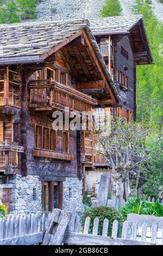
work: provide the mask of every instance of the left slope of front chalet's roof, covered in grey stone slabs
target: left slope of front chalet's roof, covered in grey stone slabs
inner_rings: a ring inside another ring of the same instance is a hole
[[[0,25],[0,58],[40,55],[86,26],[87,20]]]

